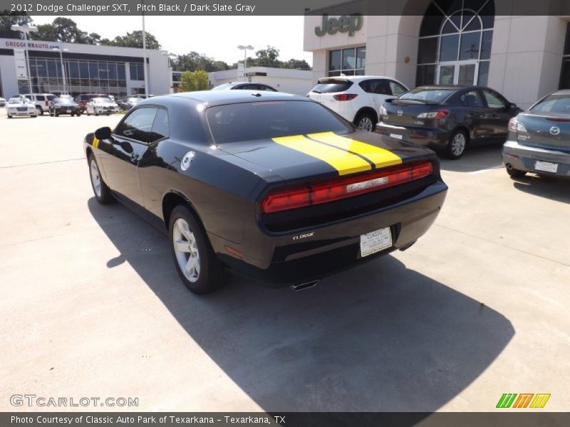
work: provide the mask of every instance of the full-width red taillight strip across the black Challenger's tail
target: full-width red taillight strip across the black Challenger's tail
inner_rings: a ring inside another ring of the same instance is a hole
[[[261,211],[264,214],[271,214],[272,212],[288,211],[289,209],[346,199],[425,178],[425,176],[430,176],[432,172],[432,164],[425,162],[354,178],[335,179],[295,186],[291,189],[274,190],[270,191],[261,202]]]

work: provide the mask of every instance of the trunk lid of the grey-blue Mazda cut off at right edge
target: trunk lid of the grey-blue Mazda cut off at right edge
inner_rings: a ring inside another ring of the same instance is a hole
[[[520,113],[517,121],[527,128],[527,132],[517,132],[519,144],[570,151],[569,115],[527,111]]]

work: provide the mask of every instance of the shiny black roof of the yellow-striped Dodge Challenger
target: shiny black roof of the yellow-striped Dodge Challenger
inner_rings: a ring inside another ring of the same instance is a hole
[[[264,90],[202,90],[198,92],[182,92],[172,95],[163,95],[144,100],[145,103],[157,101],[168,102],[170,98],[187,98],[198,102],[203,102],[209,106],[223,104],[237,104],[240,102],[261,102],[261,101],[307,101],[312,102],[307,97],[291,95],[290,93],[266,92]],[[139,104],[141,105],[142,102]]]

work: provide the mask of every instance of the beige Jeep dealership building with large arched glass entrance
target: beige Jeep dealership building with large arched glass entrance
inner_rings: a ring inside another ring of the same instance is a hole
[[[323,76],[385,75],[410,88],[478,84],[521,107],[570,88],[570,16],[515,16],[516,1],[384,4],[402,14],[305,17],[304,50],[313,53],[314,82]]]

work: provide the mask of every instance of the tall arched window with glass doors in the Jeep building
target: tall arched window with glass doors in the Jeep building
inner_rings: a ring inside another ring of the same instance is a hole
[[[432,0],[418,44],[415,84],[487,85],[493,0]]]

